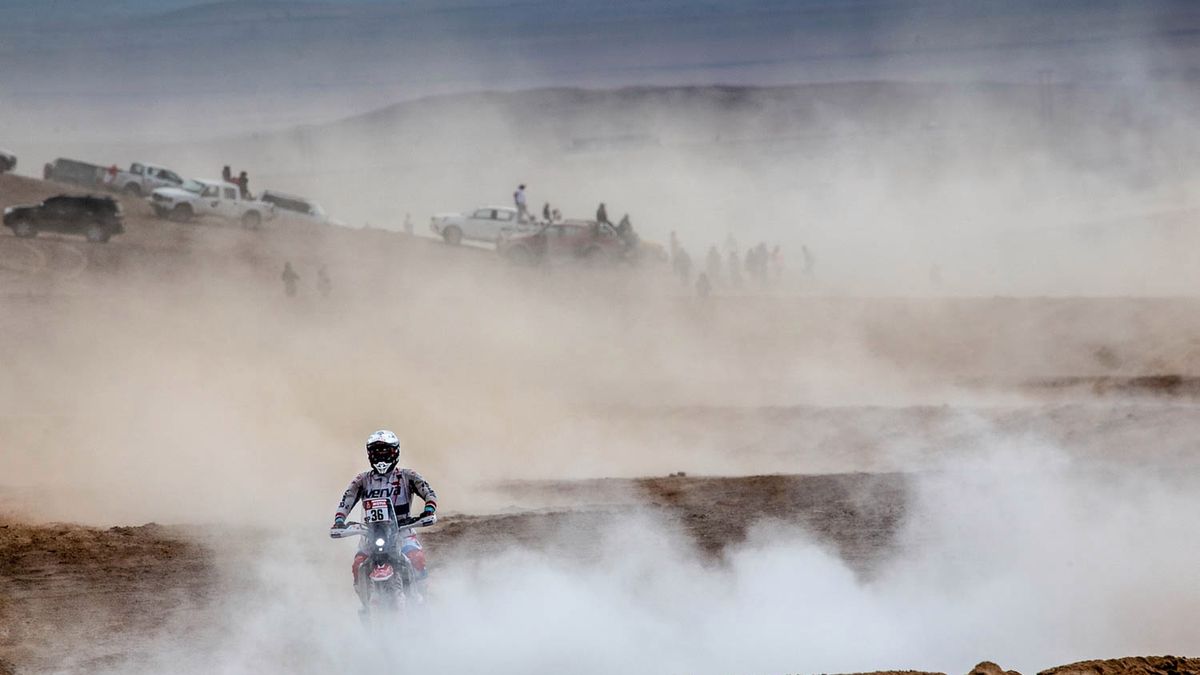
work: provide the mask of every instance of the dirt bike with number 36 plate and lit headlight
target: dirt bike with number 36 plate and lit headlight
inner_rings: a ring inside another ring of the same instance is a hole
[[[428,527],[438,521],[437,515],[397,519],[390,500],[365,500],[362,520],[347,522],[342,530],[330,530],[334,539],[364,537],[370,543],[359,574],[365,574],[366,598],[364,620],[403,611],[419,601],[416,569],[401,552],[404,538],[416,527]]]

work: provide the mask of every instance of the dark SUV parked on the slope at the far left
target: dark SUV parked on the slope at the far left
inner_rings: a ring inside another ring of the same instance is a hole
[[[83,234],[89,241],[108,241],[125,232],[121,205],[112,197],[59,195],[41,204],[8,207],[4,223],[17,237],[37,237],[38,232]]]

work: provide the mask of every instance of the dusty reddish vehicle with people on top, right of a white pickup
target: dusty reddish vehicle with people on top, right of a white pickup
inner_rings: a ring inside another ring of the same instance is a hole
[[[496,250],[518,264],[566,259],[616,262],[632,259],[636,255],[611,225],[588,220],[554,222],[536,232],[509,232],[500,238]]]

